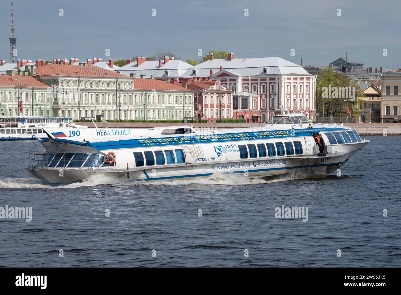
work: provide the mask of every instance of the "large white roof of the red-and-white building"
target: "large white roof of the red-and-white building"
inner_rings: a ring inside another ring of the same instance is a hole
[[[209,77],[210,70],[213,70],[213,75],[223,70],[232,73],[233,75],[265,75],[263,70],[266,68],[267,75],[310,75],[303,67],[282,59],[280,57],[260,57],[260,58],[235,58],[229,61],[228,59],[213,59],[205,61],[193,67],[190,67],[182,77],[193,77],[192,71],[197,70],[196,76]]]

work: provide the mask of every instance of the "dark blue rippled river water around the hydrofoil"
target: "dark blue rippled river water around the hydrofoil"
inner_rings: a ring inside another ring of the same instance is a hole
[[[362,137],[341,177],[59,186],[24,171],[39,142],[0,142],[0,207],[32,208],[0,219],[0,267],[401,267],[401,137]],[[282,205],[308,221],[275,218]]]

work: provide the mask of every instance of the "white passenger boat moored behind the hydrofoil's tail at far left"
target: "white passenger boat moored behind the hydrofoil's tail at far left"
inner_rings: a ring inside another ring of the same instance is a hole
[[[0,117],[0,140],[37,140],[47,138],[44,128],[87,128],[75,125],[72,118]]]

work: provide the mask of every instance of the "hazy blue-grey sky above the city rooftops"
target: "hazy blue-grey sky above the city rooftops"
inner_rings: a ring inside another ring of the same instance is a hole
[[[225,50],[234,57],[279,56],[298,64],[303,53],[302,65],[328,65],[347,51],[366,66],[396,69],[400,8],[396,0],[14,0],[14,22],[20,59],[104,61],[110,49],[115,60],[160,51],[185,60],[199,59],[202,49],[204,55]],[[1,0],[0,28],[0,58],[9,62],[9,0]]]

